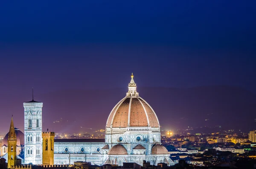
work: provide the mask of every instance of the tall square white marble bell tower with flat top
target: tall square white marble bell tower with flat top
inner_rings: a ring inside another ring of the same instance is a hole
[[[42,164],[42,107],[32,100],[24,106],[24,163]]]

